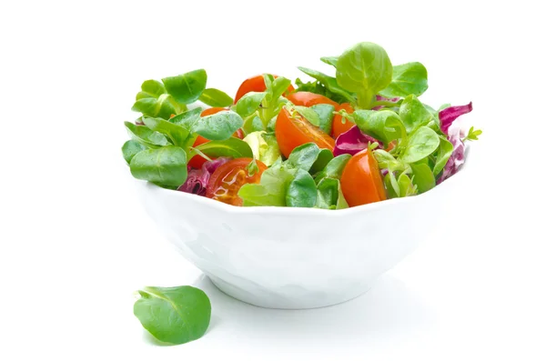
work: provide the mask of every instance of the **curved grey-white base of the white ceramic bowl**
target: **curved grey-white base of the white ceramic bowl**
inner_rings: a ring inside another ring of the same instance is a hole
[[[353,287],[350,291],[343,292],[342,294],[329,295],[329,296],[309,296],[309,297],[286,297],[278,296],[271,293],[264,293],[263,290],[253,290],[252,293],[244,290],[238,286],[229,284],[224,280],[215,276],[208,276],[214,286],[225,293],[227,296],[231,296],[239,301],[247,304],[274,309],[310,309],[320,308],[327,306],[339,305],[344,302],[350,301],[353,298],[363,295],[369,290],[368,285],[359,287]],[[257,291],[257,292],[254,292]]]

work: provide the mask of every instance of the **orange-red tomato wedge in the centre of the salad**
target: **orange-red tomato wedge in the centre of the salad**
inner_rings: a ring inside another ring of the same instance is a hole
[[[288,158],[292,150],[306,143],[315,143],[319,148],[333,150],[336,141],[324,133],[319,126],[312,125],[303,116],[292,116],[286,108],[277,115],[275,125],[280,153]]]

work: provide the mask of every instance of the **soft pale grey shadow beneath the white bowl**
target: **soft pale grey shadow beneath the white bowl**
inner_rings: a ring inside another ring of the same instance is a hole
[[[361,342],[362,337],[411,334],[434,322],[431,310],[402,281],[381,276],[364,295],[337,306],[309,310],[278,310],[248,305],[227,296],[201,276],[194,284],[212,303],[207,333],[231,329],[248,338],[325,342]],[[224,332],[223,332],[224,333]],[[403,335],[402,335],[403,336]],[[390,338],[390,337],[389,337]]]

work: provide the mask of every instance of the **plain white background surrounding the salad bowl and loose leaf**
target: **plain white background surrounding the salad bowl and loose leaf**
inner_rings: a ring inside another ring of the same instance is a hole
[[[0,358],[545,359],[538,4],[2,2]],[[139,85],[204,67],[234,95],[250,75],[328,70],[320,56],[360,41],[426,65],[427,103],[473,101],[465,124],[484,134],[460,205],[346,304],[279,311],[221,294],[136,200],[119,148]],[[157,346],[133,292],[189,284],[211,298],[207,335]]]

